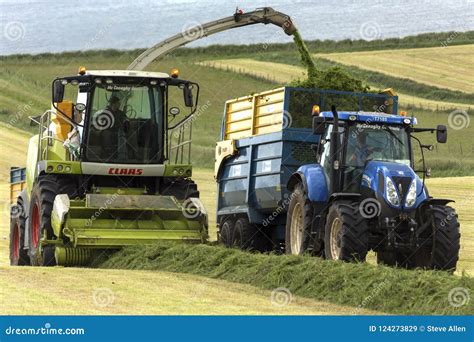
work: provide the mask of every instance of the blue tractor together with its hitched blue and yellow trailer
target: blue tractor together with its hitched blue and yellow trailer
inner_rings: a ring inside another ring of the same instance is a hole
[[[339,110],[338,110],[339,108]],[[433,198],[422,132],[380,93],[284,87],[226,102],[216,147],[220,241],[251,250],[454,270],[457,214]]]

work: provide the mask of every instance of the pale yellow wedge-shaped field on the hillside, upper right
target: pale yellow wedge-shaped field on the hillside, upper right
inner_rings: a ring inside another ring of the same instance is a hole
[[[474,92],[474,44],[317,54],[316,57],[439,88]]]

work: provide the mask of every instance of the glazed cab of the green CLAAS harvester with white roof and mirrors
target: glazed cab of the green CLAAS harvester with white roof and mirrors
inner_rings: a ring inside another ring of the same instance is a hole
[[[37,118],[48,127],[41,132],[40,149],[45,157],[49,153],[45,159],[163,164],[176,136],[169,133],[196,110],[198,92],[199,86],[179,79],[176,69],[170,76],[81,67],[76,76],[54,80],[52,110]]]

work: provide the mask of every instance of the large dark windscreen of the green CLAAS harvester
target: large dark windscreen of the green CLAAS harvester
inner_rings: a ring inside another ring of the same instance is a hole
[[[163,92],[157,86],[97,84],[91,94],[86,158],[101,163],[160,163]]]

